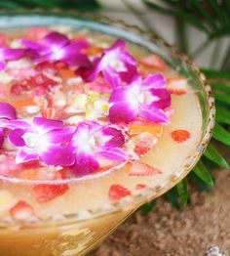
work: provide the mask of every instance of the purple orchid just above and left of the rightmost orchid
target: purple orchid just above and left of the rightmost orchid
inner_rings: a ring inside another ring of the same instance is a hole
[[[92,82],[100,72],[112,87],[116,87],[120,78],[125,82],[130,82],[134,78],[137,73],[136,62],[125,49],[125,41],[118,39],[112,47],[102,53],[100,58],[93,61],[91,69],[77,70],[87,82]]]

